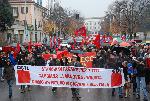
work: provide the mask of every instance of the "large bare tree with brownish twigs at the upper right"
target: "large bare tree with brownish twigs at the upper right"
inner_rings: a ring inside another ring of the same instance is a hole
[[[143,23],[144,10],[150,4],[150,0],[118,0],[110,5],[108,13],[111,26],[119,33],[126,32],[132,39],[137,27]],[[111,28],[110,28],[111,29]]]

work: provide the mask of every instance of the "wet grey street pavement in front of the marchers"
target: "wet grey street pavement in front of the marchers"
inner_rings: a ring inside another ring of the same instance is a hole
[[[33,86],[32,91],[21,94],[19,86],[13,86],[13,98],[9,100],[6,83],[0,83],[0,101],[72,101],[71,90],[59,88],[54,95],[51,87]],[[81,101],[140,101],[135,97],[119,99],[111,97],[111,89],[80,89]]]

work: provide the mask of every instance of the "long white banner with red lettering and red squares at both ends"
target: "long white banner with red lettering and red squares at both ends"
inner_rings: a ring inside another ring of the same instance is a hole
[[[29,65],[14,68],[17,85],[69,88],[115,88],[124,85],[123,73],[112,72],[112,69]]]

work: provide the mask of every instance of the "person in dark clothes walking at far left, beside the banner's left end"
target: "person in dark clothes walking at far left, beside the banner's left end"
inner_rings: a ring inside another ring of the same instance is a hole
[[[11,99],[12,97],[12,85],[13,85],[13,80],[15,78],[15,73],[13,70],[13,66],[11,65],[10,60],[7,60],[7,64],[4,66],[4,79],[7,80],[7,84],[9,87],[9,98]]]

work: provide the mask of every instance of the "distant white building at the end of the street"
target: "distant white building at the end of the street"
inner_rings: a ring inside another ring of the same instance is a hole
[[[84,24],[89,34],[97,34],[101,30],[101,20],[99,17],[86,18]]]

